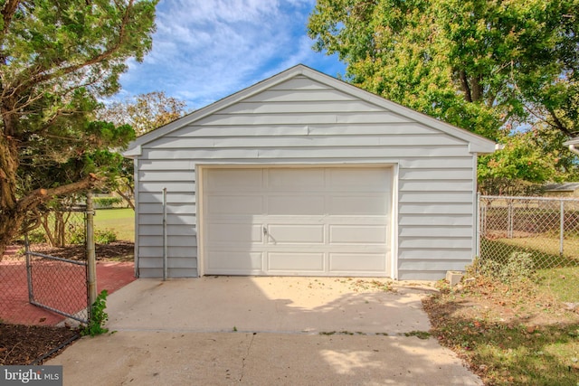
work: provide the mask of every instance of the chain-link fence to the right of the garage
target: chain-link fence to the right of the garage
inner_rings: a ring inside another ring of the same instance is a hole
[[[525,252],[534,268],[579,266],[579,200],[479,196],[479,258],[507,264]]]

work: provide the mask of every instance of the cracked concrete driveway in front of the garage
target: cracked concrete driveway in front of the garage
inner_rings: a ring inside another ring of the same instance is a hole
[[[109,296],[114,334],[46,364],[63,365],[65,385],[482,384],[415,336],[430,328],[421,298],[432,290],[385,292],[368,278],[138,279]]]

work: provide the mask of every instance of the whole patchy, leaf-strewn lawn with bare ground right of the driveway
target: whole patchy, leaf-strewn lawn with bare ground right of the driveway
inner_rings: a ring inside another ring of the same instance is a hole
[[[478,268],[423,300],[432,336],[485,384],[579,385],[579,307],[568,303],[579,302],[579,268],[520,276]]]

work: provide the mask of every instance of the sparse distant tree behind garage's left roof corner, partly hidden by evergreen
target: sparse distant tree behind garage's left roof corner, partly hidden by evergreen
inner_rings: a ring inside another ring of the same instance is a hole
[[[113,102],[99,110],[98,117],[117,125],[133,127],[138,136],[164,126],[185,115],[186,103],[167,97],[164,91],[152,91],[137,97]],[[109,179],[109,189],[117,192],[134,210],[133,161],[120,159],[117,177]]]

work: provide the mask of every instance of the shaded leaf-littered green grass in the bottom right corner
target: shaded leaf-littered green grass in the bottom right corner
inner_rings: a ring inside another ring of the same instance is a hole
[[[579,325],[524,325],[455,320],[439,331],[446,344],[479,365],[489,384],[569,385],[579,381]],[[484,366],[484,367],[483,367]]]

